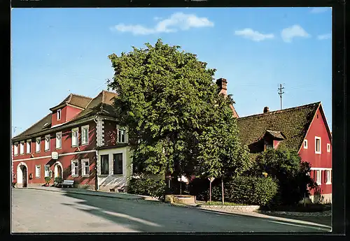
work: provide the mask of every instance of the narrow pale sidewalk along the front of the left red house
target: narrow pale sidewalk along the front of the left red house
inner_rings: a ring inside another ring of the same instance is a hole
[[[134,195],[130,193],[108,193],[104,191],[94,191],[94,190],[86,190],[86,189],[78,189],[78,188],[57,188],[57,187],[27,187],[27,189],[36,189],[42,191],[55,191],[61,193],[75,193],[81,195],[90,195],[90,196],[102,196],[106,198],[118,198],[124,200],[156,200],[150,196],[141,196]]]

